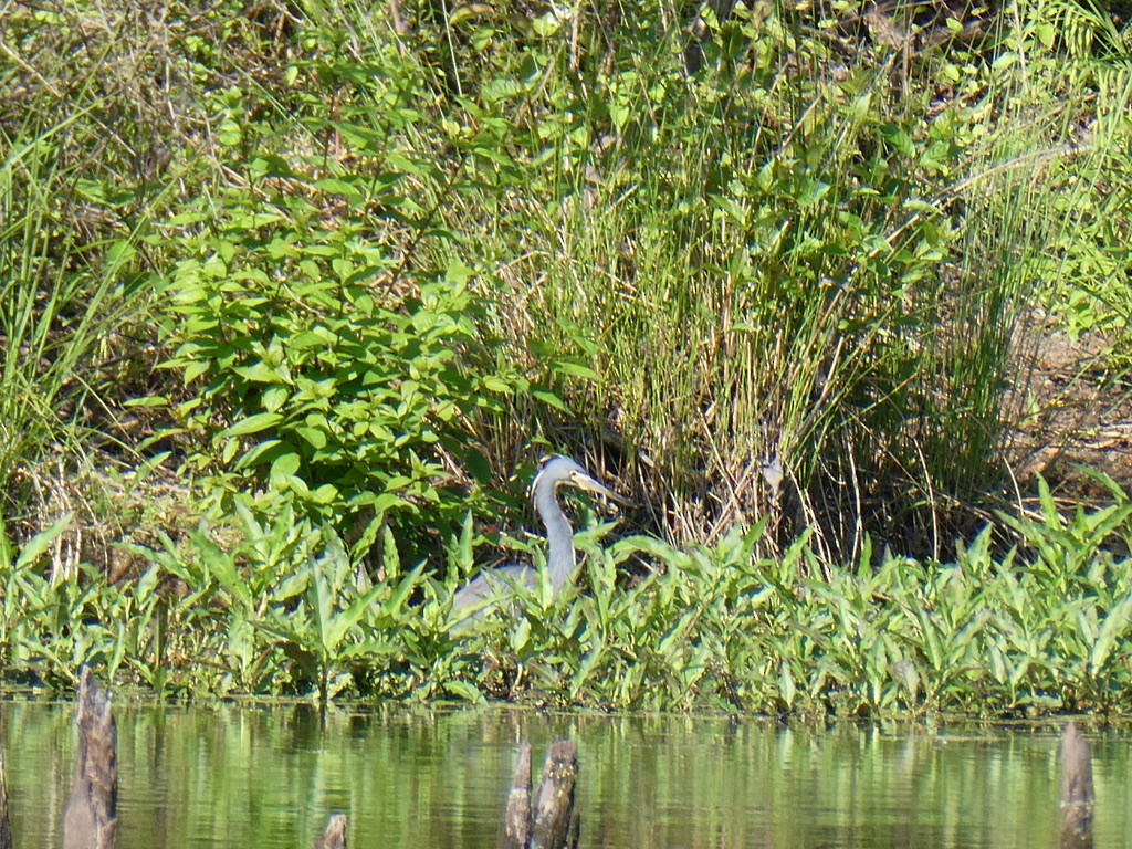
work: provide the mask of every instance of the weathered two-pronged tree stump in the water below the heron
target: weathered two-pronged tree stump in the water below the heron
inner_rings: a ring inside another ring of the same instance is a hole
[[[550,747],[542,780],[531,800],[531,746],[523,743],[499,832],[499,849],[576,849],[581,816],[574,809],[577,747],[560,740]]]

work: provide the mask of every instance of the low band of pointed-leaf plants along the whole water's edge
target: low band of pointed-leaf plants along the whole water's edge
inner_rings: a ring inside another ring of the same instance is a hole
[[[556,599],[546,581],[516,588],[507,608],[457,629],[455,577],[403,569],[388,531],[375,582],[327,526],[240,516],[234,544],[201,531],[137,549],[154,565],[122,586],[91,571],[52,584],[42,559],[62,525],[19,552],[7,543],[5,678],[59,688],[92,663],[185,698],[507,698],[808,719],[1132,707],[1132,559],[1113,554],[1132,538],[1126,497],[1066,521],[1045,491],[1041,516],[1003,517],[1024,541],[1017,550],[996,559],[1001,529],[988,525],[947,564],[866,550],[840,568],[808,537],[766,558],[764,526],[711,548],[607,544],[612,528],[600,525],[578,534],[576,589]],[[471,542],[469,522],[448,543],[458,571]]]

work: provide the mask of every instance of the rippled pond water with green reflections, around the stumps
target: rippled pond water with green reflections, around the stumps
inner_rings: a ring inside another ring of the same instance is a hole
[[[119,849],[494,846],[518,740],[578,744],[584,847],[1054,847],[1057,729],[829,731],[685,717],[117,705]],[[60,843],[69,704],[3,703],[16,844]],[[1123,847],[1132,739],[1097,736],[1096,846]]]

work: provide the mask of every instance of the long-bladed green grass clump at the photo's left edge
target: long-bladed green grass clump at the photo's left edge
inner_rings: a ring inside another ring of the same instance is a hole
[[[134,308],[138,233],[88,240],[70,230],[79,203],[60,147],[82,115],[29,123],[0,163],[0,491],[5,508],[37,487],[38,464],[84,455],[108,421],[97,363]],[[89,188],[89,187],[86,187]],[[96,428],[95,428],[96,429]],[[65,464],[68,461],[63,461]]]

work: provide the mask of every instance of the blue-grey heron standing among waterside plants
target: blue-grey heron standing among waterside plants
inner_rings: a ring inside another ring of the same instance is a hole
[[[551,457],[543,463],[531,483],[531,500],[534,501],[534,508],[547,532],[547,573],[554,598],[558,598],[566,583],[574,577],[577,566],[574,554],[574,529],[571,528],[569,520],[558,504],[559,486],[577,487],[621,504],[626,503],[625,498],[599,483],[569,457]],[[516,585],[534,589],[537,580],[538,572],[524,564],[513,563],[486,569],[456,592],[452,601],[453,612],[466,614],[460,619],[466,621],[489,607],[489,601],[511,595]]]

